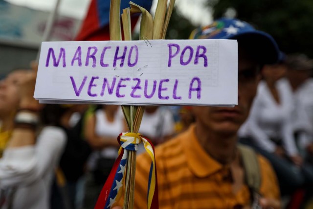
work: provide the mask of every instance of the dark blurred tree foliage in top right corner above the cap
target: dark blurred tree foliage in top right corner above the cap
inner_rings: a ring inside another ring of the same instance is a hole
[[[313,0],[208,0],[214,19],[231,8],[236,17],[271,34],[285,53],[313,58]]]

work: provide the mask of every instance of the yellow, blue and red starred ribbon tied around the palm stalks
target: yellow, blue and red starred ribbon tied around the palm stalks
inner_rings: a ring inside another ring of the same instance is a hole
[[[143,138],[141,134],[136,133],[121,133],[117,138],[121,145],[118,150],[118,157],[113,164],[110,175],[103,186],[101,193],[98,197],[95,209],[110,209],[111,206],[117,202],[121,196],[124,182],[125,167],[127,164],[128,150],[137,150],[138,144],[143,142],[145,150],[151,157],[151,166],[148,181],[148,194],[147,194],[147,208],[158,209],[158,191],[157,191],[157,178],[156,178],[156,160],[155,149],[149,139]]]

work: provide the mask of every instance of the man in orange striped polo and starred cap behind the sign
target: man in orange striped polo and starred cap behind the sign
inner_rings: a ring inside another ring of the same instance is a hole
[[[271,36],[236,19],[220,19],[192,33],[194,39],[236,39],[239,46],[238,105],[193,107],[196,122],[186,132],[156,148],[161,209],[248,209],[252,192],[246,184],[237,131],[256,94],[259,71],[278,60]],[[257,156],[261,175],[256,205],[279,209],[279,188],[270,164]],[[150,157],[137,159],[134,208],[147,208]],[[254,199],[255,202],[255,199]],[[255,206],[254,206],[255,207]]]

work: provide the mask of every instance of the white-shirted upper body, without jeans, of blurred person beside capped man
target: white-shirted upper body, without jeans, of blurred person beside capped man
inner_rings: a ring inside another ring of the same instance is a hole
[[[258,93],[242,135],[249,135],[262,149],[277,155],[287,154],[295,164],[301,163],[293,137],[292,92],[288,81],[282,78],[285,69],[265,66]]]

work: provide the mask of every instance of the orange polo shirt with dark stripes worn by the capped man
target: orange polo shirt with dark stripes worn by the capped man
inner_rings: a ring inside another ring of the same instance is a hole
[[[279,199],[276,176],[270,164],[258,156],[263,197]],[[138,156],[135,177],[135,209],[147,208],[147,184],[151,160]],[[232,190],[231,170],[211,158],[195,135],[195,126],[156,148],[160,209],[233,209],[247,206],[250,192],[244,185]],[[227,178],[230,177],[230,178]]]

